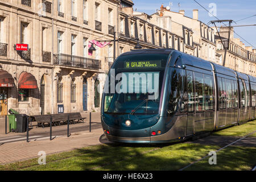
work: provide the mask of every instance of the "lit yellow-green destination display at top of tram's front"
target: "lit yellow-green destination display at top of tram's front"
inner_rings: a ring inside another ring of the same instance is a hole
[[[125,68],[160,68],[160,60],[151,61],[125,61]]]

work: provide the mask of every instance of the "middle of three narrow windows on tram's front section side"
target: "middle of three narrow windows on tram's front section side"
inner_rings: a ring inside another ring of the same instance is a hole
[[[195,72],[195,86],[196,86],[196,111],[205,110],[205,89],[204,77],[202,73]]]

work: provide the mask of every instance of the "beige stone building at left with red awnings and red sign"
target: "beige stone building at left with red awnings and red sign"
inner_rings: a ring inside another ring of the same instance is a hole
[[[113,46],[94,45],[90,55],[88,45],[113,39],[118,3],[2,0],[1,115],[10,108],[28,115],[98,110]],[[15,51],[19,43],[28,50]]]

